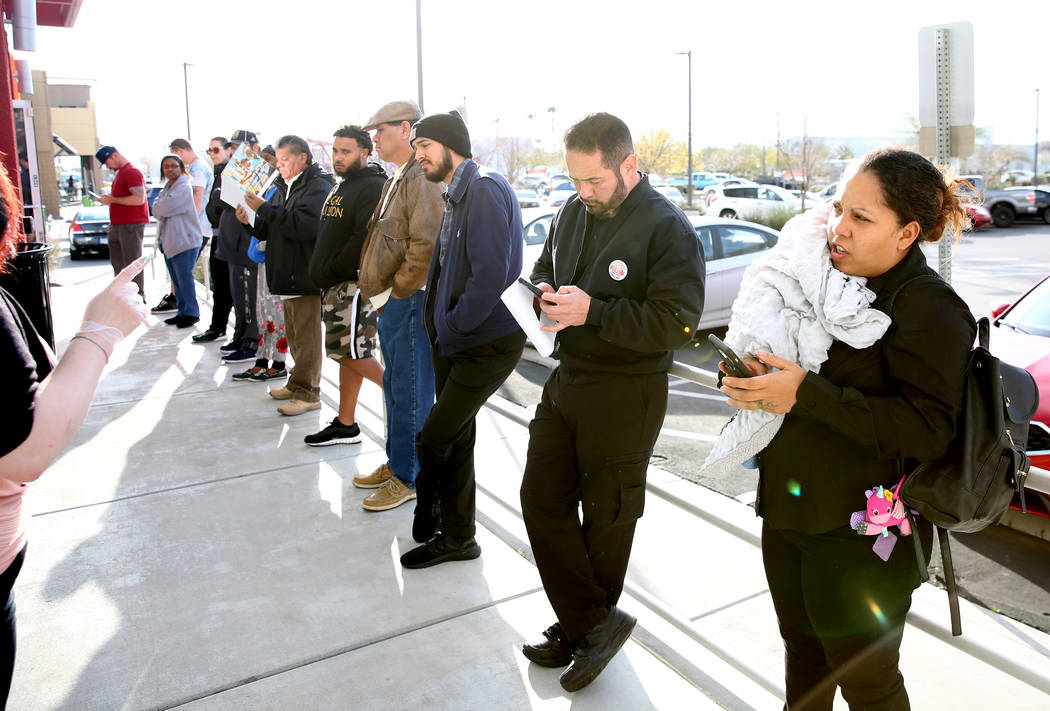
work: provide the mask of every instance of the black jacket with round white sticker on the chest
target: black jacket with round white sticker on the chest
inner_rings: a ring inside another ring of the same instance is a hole
[[[587,322],[558,334],[555,357],[581,371],[667,371],[674,349],[689,342],[704,311],[704,253],[696,231],[643,175],[615,215],[600,221],[602,244],[578,270],[593,222],[580,196],[570,197],[554,216],[530,277],[555,290],[574,285],[591,297]]]

